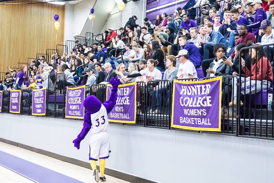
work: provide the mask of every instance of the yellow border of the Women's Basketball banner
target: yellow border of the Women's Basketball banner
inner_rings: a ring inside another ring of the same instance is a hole
[[[211,81],[220,81],[220,89],[219,89],[219,128],[201,128],[201,127],[188,127],[188,126],[181,126],[181,125],[174,125],[173,118],[174,118],[174,96],[172,95],[172,115],[171,115],[171,127],[179,128],[179,129],[186,129],[186,130],[197,130],[197,131],[221,131],[221,98],[222,98],[222,76],[211,78],[207,80],[201,81],[181,81],[181,80],[173,80],[173,94],[175,93],[175,83],[181,84],[198,84],[198,83],[207,83]]]

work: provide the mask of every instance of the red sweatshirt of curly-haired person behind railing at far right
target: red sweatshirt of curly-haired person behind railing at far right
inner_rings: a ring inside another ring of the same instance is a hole
[[[257,66],[257,73],[256,73],[256,66]],[[262,81],[266,79],[271,82],[273,81],[272,67],[266,57],[263,57],[263,69],[262,69],[262,59],[260,59],[257,62],[257,64],[256,63],[251,64],[251,72],[248,70],[246,66],[242,67],[242,69],[245,72],[245,76],[246,77],[250,76],[251,80],[257,79],[259,81]]]

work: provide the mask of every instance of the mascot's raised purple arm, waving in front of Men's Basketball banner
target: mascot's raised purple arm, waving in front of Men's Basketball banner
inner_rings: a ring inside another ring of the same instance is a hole
[[[110,111],[113,109],[114,105],[116,104],[117,90],[118,90],[118,85],[120,83],[120,79],[117,77],[111,78],[109,82],[112,85],[111,94],[110,94],[108,101],[105,101],[103,103],[103,105],[106,108],[107,113],[110,113]]]

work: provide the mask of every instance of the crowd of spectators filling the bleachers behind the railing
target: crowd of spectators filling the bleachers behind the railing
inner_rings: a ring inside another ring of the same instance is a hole
[[[196,8],[199,8],[198,15]],[[65,86],[106,83],[115,76],[122,83],[161,79],[172,82],[197,78],[200,68],[205,77],[242,74],[243,87],[257,84],[267,89],[273,81],[273,46],[240,52],[246,46],[274,43],[271,0],[225,0],[223,7],[214,0],[197,3],[190,0],[183,8],[174,10],[173,15],[157,15],[154,24],[147,17],[143,25],[137,25],[136,20],[135,15],[130,17],[118,29],[120,34],[109,28],[103,34],[103,42],[88,46],[76,40],[69,53],[60,56],[56,52],[48,62],[44,57],[33,60],[29,68],[22,65],[18,74],[11,70],[12,76],[6,74],[7,88],[47,87],[50,78],[61,90],[60,81],[49,75],[62,72]],[[236,88],[230,83],[225,93],[234,93],[236,97]],[[250,94],[260,90],[257,87]],[[156,103],[152,103],[150,112],[160,113],[159,95],[168,92],[168,88],[156,86],[154,91]],[[234,99],[226,100],[223,108],[227,109]],[[225,111],[224,115],[232,113],[235,111]]]

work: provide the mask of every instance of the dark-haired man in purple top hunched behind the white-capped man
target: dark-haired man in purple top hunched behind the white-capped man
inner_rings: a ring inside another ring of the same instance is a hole
[[[179,39],[179,49],[178,49],[178,53],[179,50],[187,50],[188,51],[188,58],[190,60],[190,62],[192,62],[192,64],[194,65],[195,68],[200,68],[201,66],[201,62],[202,62],[202,56],[200,54],[199,49],[192,43],[192,42],[188,42],[188,39],[186,38],[186,36],[184,35],[180,35],[178,37]],[[179,60],[177,60],[177,68],[179,68]]]

